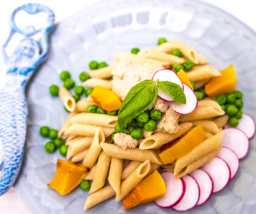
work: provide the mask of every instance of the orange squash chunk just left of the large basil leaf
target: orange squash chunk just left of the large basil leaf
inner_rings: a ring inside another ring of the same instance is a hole
[[[102,86],[95,86],[91,97],[98,106],[107,111],[118,110],[122,105],[122,102],[112,90]]]

